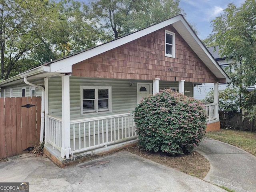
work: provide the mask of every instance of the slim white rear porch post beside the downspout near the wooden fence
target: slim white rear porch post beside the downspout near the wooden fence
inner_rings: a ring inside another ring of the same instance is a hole
[[[48,79],[49,78],[44,78],[44,143],[48,144],[48,140],[49,140],[49,125],[48,125],[48,121],[46,118],[46,115],[49,114],[49,102],[48,102],[48,98],[49,98],[49,89],[48,89]]]

